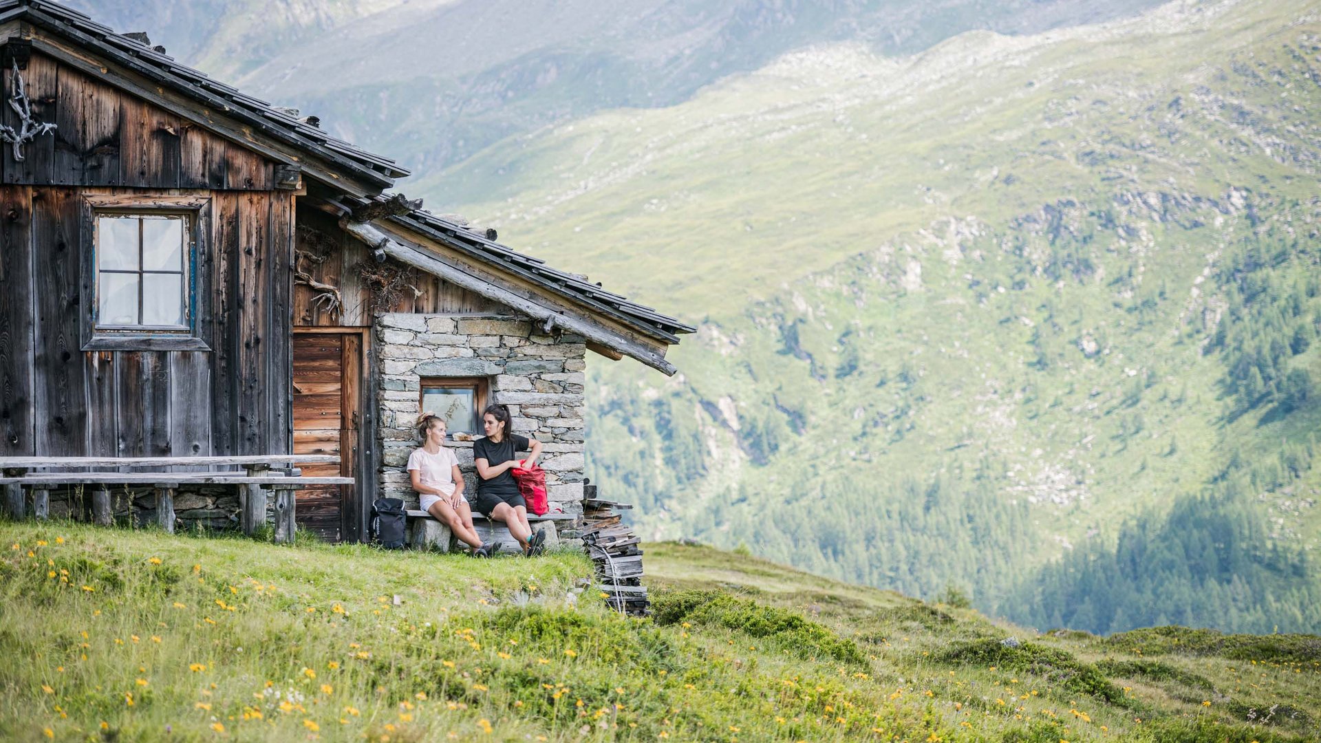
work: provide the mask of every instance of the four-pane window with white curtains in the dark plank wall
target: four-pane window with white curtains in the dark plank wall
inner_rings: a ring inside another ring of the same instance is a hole
[[[192,222],[186,213],[95,213],[96,331],[192,329]]]

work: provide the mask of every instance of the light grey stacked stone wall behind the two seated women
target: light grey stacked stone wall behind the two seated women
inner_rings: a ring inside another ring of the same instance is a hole
[[[382,374],[379,435],[382,497],[417,508],[404,467],[420,446],[421,379],[485,377],[489,402],[509,406],[514,432],[542,442],[551,512],[583,512],[583,418],[587,345],[581,336],[546,334],[527,317],[391,313],[376,317]],[[458,455],[472,500],[477,471],[470,442],[446,442]]]

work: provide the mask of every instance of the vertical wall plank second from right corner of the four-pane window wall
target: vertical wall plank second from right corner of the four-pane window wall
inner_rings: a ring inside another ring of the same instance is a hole
[[[266,258],[269,251],[269,206],[264,193],[239,197],[238,305],[238,453],[267,453],[267,325],[269,292]]]

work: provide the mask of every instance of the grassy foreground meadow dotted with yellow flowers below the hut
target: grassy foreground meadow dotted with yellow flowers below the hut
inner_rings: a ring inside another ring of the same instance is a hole
[[[543,559],[4,524],[5,740],[1314,739],[1321,639],[1036,635],[709,547]],[[398,598],[396,598],[398,596]]]

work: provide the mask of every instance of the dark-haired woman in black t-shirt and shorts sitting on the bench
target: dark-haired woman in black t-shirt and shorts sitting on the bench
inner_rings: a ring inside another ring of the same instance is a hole
[[[519,436],[510,431],[513,419],[503,405],[491,405],[482,414],[485,439],[473,442],[473,459],[477,463],[477,510],[495,521],[503,521],[509,533],[518,539],[527,557],[542,554],[546,530],[532,534],[527,522],[527,502],[518,493],[518,483],[510,469],[531,467],[542,453],[542,442]],[[517,453],[531,451],[531,456],[519,461]]]

